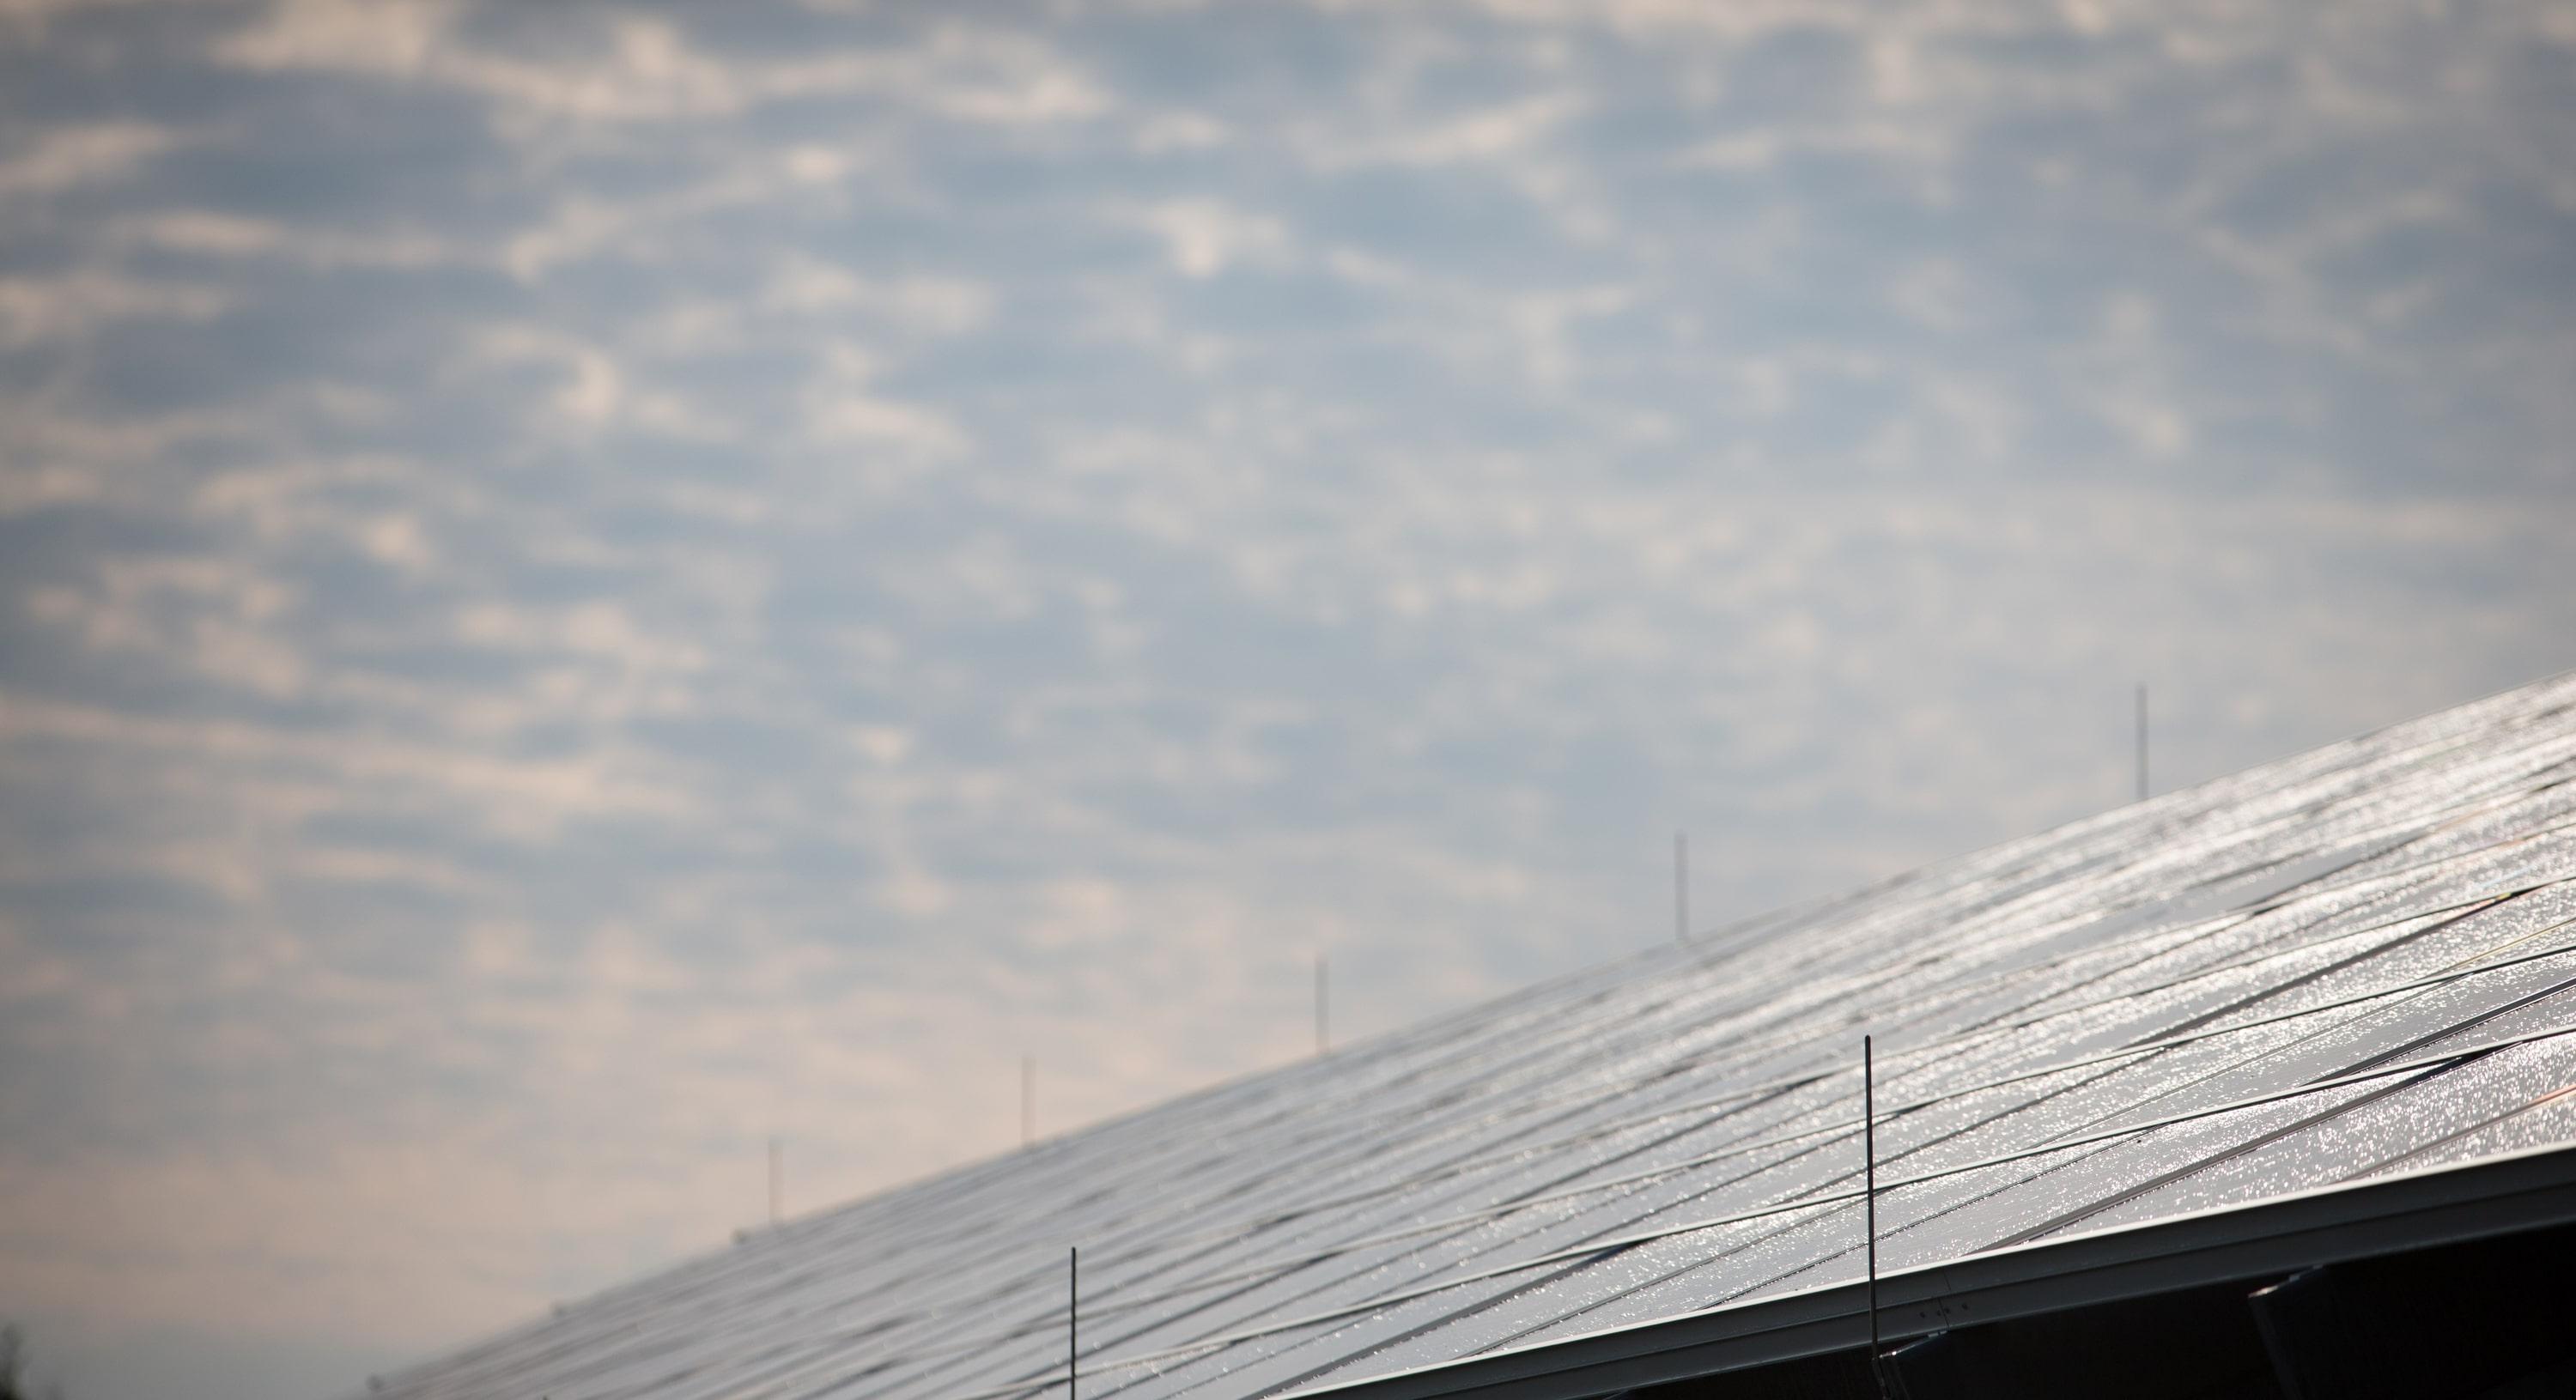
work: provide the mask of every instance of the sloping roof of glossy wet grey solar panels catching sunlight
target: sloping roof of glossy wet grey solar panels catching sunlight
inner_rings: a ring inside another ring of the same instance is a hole
[[[386,1377],[1242,1400],[2576,1140],[2576,677],[1105,1122]]]

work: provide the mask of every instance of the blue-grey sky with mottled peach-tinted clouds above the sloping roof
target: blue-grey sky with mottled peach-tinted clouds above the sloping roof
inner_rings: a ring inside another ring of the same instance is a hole
[[[2576,667],[2576,10],[0,0],[0,1318],[786,1204]]]

